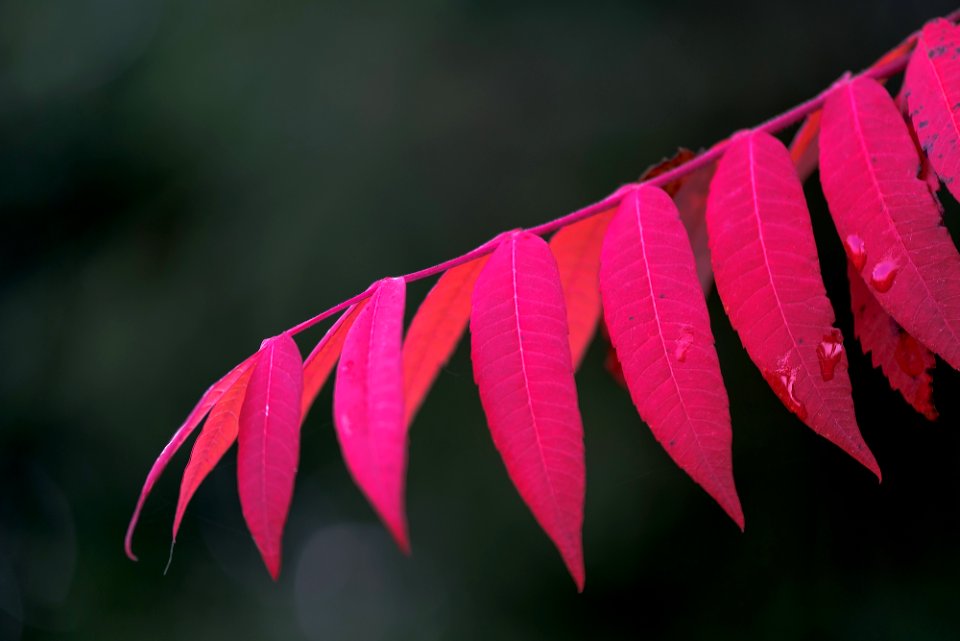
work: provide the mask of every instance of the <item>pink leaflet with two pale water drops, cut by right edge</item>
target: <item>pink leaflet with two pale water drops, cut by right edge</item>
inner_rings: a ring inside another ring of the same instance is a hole
[[[960,367],[960,254],[887,92],[860,78],[824,105],[820,181],[851,261],[908,333]]]

